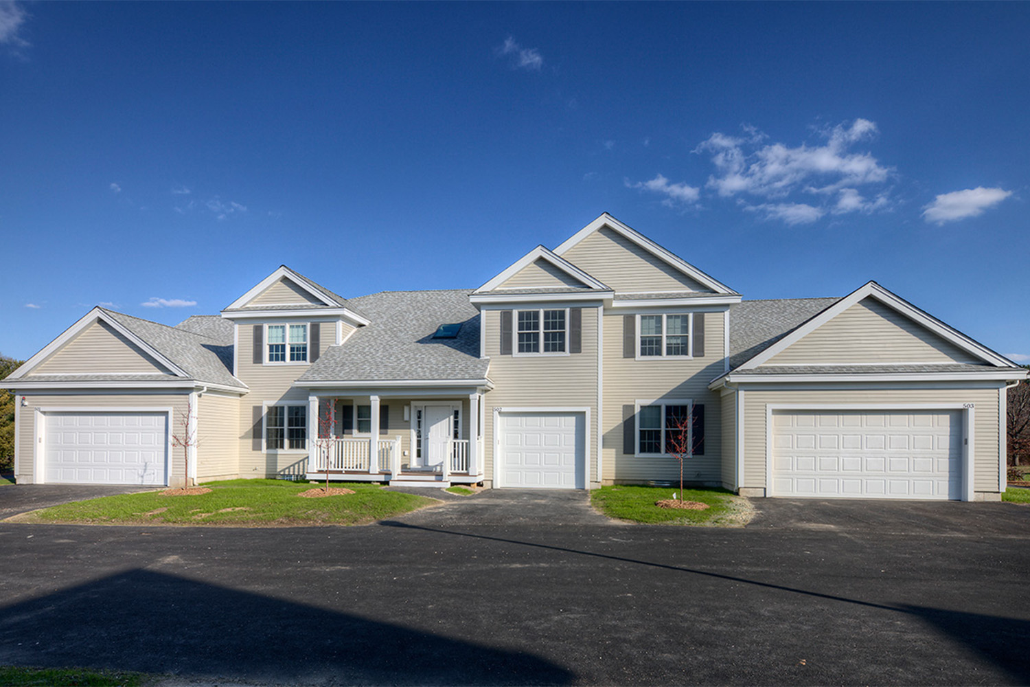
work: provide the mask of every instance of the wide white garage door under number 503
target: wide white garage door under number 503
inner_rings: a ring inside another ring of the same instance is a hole
[[[774,496],[961,499],[960,411],[772,412]]]

